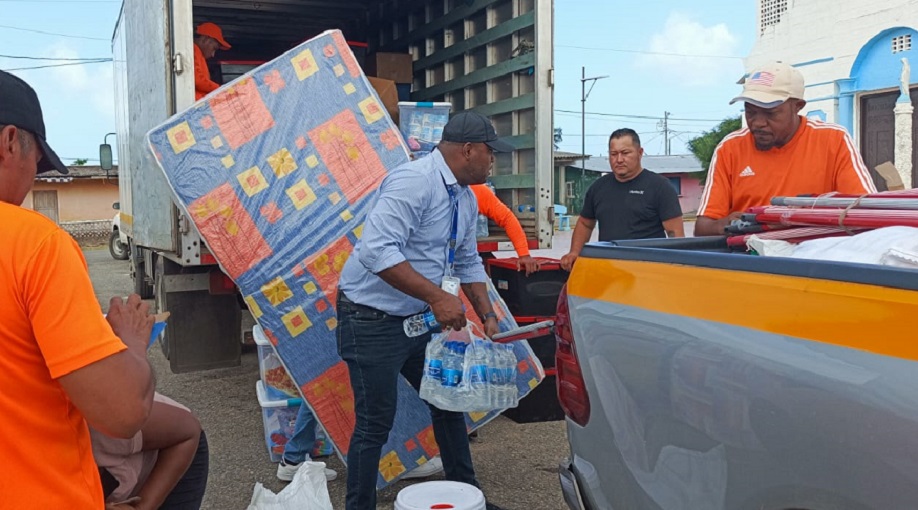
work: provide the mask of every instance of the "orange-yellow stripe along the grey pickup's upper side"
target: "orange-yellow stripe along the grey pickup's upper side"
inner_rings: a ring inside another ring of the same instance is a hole
[[[617,259],[577,260],[568,294],[918,360],[918,292]]]

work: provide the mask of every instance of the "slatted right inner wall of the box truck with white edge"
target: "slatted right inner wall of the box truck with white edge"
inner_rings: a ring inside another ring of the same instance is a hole
[[[412,100],[490,117],[516,150],[492,182],[540,247],[552,236],[552,0],[433,0],[371,10],[380,51],[414,56]],[[374,44],[375,43],[375,44]],[[523,211],[519,210],[523,206]],[[551,212],[550,212],[551,211]]]

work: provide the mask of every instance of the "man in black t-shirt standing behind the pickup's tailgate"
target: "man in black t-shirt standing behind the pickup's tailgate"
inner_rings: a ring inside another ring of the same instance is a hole
[[[682,207],[665,177],[641,166],[641,139],[633,129],[618,129],[609,137],[612,173],[590,186],[580,219],[571,236],[571,251],[561,258],[570,271],[583,245],[599,222],[600,241],[685,237]]]

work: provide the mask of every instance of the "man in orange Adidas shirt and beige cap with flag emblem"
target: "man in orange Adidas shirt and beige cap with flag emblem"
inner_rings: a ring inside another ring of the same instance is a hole
[[[754,69],[743,92],[746,126],[714,151],[701,196],[696,236],[722,235],[750,207],[773,197],[874,193],[854,142],[841,126],[800,115],[803,75],[783,62]]]

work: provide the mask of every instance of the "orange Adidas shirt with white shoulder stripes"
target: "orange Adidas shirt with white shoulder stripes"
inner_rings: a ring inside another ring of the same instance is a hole
[[[698,216],[721,219],[773,197],[875,193],[870,172],[841,126],[801,117],[783,147],[755,148],[748,128],[727,135],[711,159]]]

